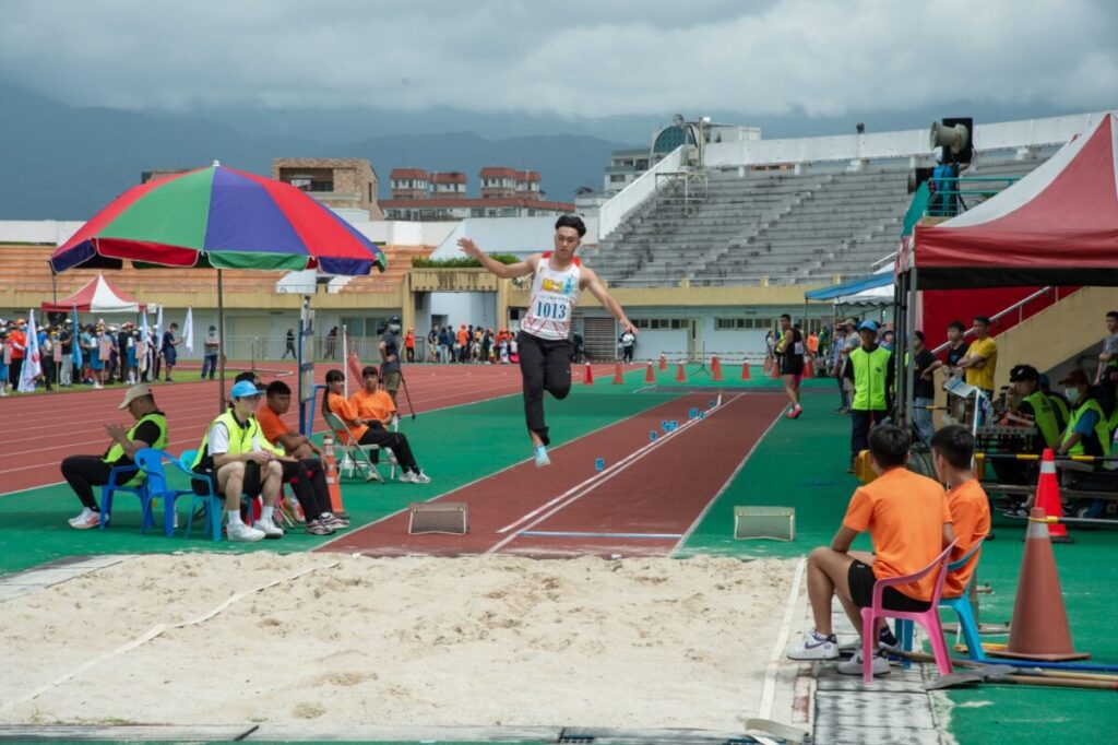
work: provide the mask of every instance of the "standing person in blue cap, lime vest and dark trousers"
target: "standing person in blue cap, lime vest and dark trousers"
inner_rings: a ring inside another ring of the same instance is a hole
[[[862,346],[850,353],[843,370],[843,377],[854,384],[847,473],[854,472],[854,459],[869,446],[870,428],[884,421],[892,399],[893,355],[878,345],[879,328],[877,321],[862,321],[858,327]]]

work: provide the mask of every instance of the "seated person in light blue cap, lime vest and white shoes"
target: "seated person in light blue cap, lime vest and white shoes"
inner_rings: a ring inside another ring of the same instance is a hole
[[[283,530],[274,520],[283,479],[280,465],[283,452],[268,442],[253,416],[263,395],[264,392],[250,380],[235,383],[229,390],[231,405],[206,431],[191,466],[196,473],[209,477],[214,493],[225,496],[226,531],[233,541],[256,543],[283,537]],[[203,489],[201,483],[195,482],[195,491],[205,493]],[[240,518],[241,494],[264,498],[260,519],[253,527]]]

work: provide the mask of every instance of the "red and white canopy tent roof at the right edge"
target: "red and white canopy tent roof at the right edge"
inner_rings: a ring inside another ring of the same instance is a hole
[[[912,289],[1118,286],[1118,117],[958,217],[916,227],[898,257]]]

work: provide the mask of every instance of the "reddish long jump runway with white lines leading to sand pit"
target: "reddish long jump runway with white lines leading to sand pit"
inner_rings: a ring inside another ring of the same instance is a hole
[[[689,409],[705,409],[709,398],[682,396],[553,449],[550,466],[537,469],[527,461],[442,494],[437,501],[468,504],[465,536],[408,535],[405,510],[319,550],[375,556],[667,555],[787,404],[776,394],[738,395],[705,418],[689,422]],[[650,432],[659,431],[663,419],[679,421],[680,430],[650,443]],[[598,458],[607,466],[601,473],[595,470]],[[510,525],[514,527],[500,532]],[[599,535],[519,532],[529,529]],[[647,535],[669,537],[641,537]]]

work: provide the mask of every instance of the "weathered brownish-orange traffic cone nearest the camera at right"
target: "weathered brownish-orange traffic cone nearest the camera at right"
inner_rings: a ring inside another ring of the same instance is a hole
[[[1042,477],[1043,478],[1043,477]],[[1025,532],[1025,553],[1021,557],[1017,597],[1010,623],[1006,649],[991,650],[994,657],[1021,660],[1086,660],[1090,654],[1076,652],[1071,645],[1068,612],[1063,606],[1060,574],[1049,539],[1044,510],[1033,508]]]

